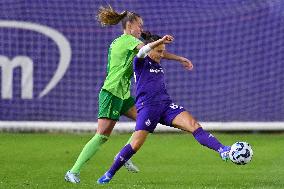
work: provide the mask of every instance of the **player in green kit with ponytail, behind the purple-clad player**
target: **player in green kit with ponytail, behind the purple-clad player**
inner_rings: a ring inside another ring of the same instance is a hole
[[[107,76],[99,94],[96,135],[84,146],[73,167],[65,174],[65,180],[72,183],[80,182],[79,173],[82,166],[108,140],[120,115],[125,115],[132,120],[136,120],[137,117],[135,101],[130,96],[130,82],[133,76],[133,58],[144,46],[144,43],[138,39],[143,32],[143,20],[134,12],[118,13],[111,6],[100,7],[97,18],[103,26],[121,22],[123,34],[111,43],[108,51]],[[167,52],[164,58],[176,60],[185,68],[191,65],[187,58]],[[128,140],[128,143],[130,142],[131,138]],[[139,171],[131,160],[124,165],[129,171]]]

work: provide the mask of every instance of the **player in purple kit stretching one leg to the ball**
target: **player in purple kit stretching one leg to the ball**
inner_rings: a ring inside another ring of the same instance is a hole
[[[223,160],[229,159],[230,146],[224,146],[212,134],[204,131],[189,112],[173,103],[166,91],[160,61],[165,52],[165,44],[172,41],[173,37],[170,35],[163,38],[150,35],[146,41],[148,44],[134,58],[135,104],[138,110],[135,132],[131,143],[120,150],[110,169],[98,179],[98,184],[110,182],[123,164],[140,149],[158,123],[192,133],[201,145],[218,152]],[[192,68],[192,64],[187,67],[188,70]]]

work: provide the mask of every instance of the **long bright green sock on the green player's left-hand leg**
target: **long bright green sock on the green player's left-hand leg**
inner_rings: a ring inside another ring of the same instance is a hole
[[[108,136],[96,134],[83,148],[76,163],[71,169],[71,173],[79,173],[82,166],[95,155],[101,145],[103,145],[107,140]]]

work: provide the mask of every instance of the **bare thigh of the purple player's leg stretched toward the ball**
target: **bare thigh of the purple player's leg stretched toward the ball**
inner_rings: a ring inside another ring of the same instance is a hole
[[[189,131],[191,133],[200,127],[197,120],[187,111],[183,111],[178,114],[173,119],[172,125],[176,128]]]

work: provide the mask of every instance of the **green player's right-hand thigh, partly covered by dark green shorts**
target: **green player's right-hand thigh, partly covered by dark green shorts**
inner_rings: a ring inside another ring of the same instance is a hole
[[[125,115],[126,117],[132,119],[132,120],[136,120],[137,118],[137,109],[135,106],[135,100],[133,97],[130,97],[126,100],[123,100],[123,105],[121,108],[121,112],[122,115]]]

